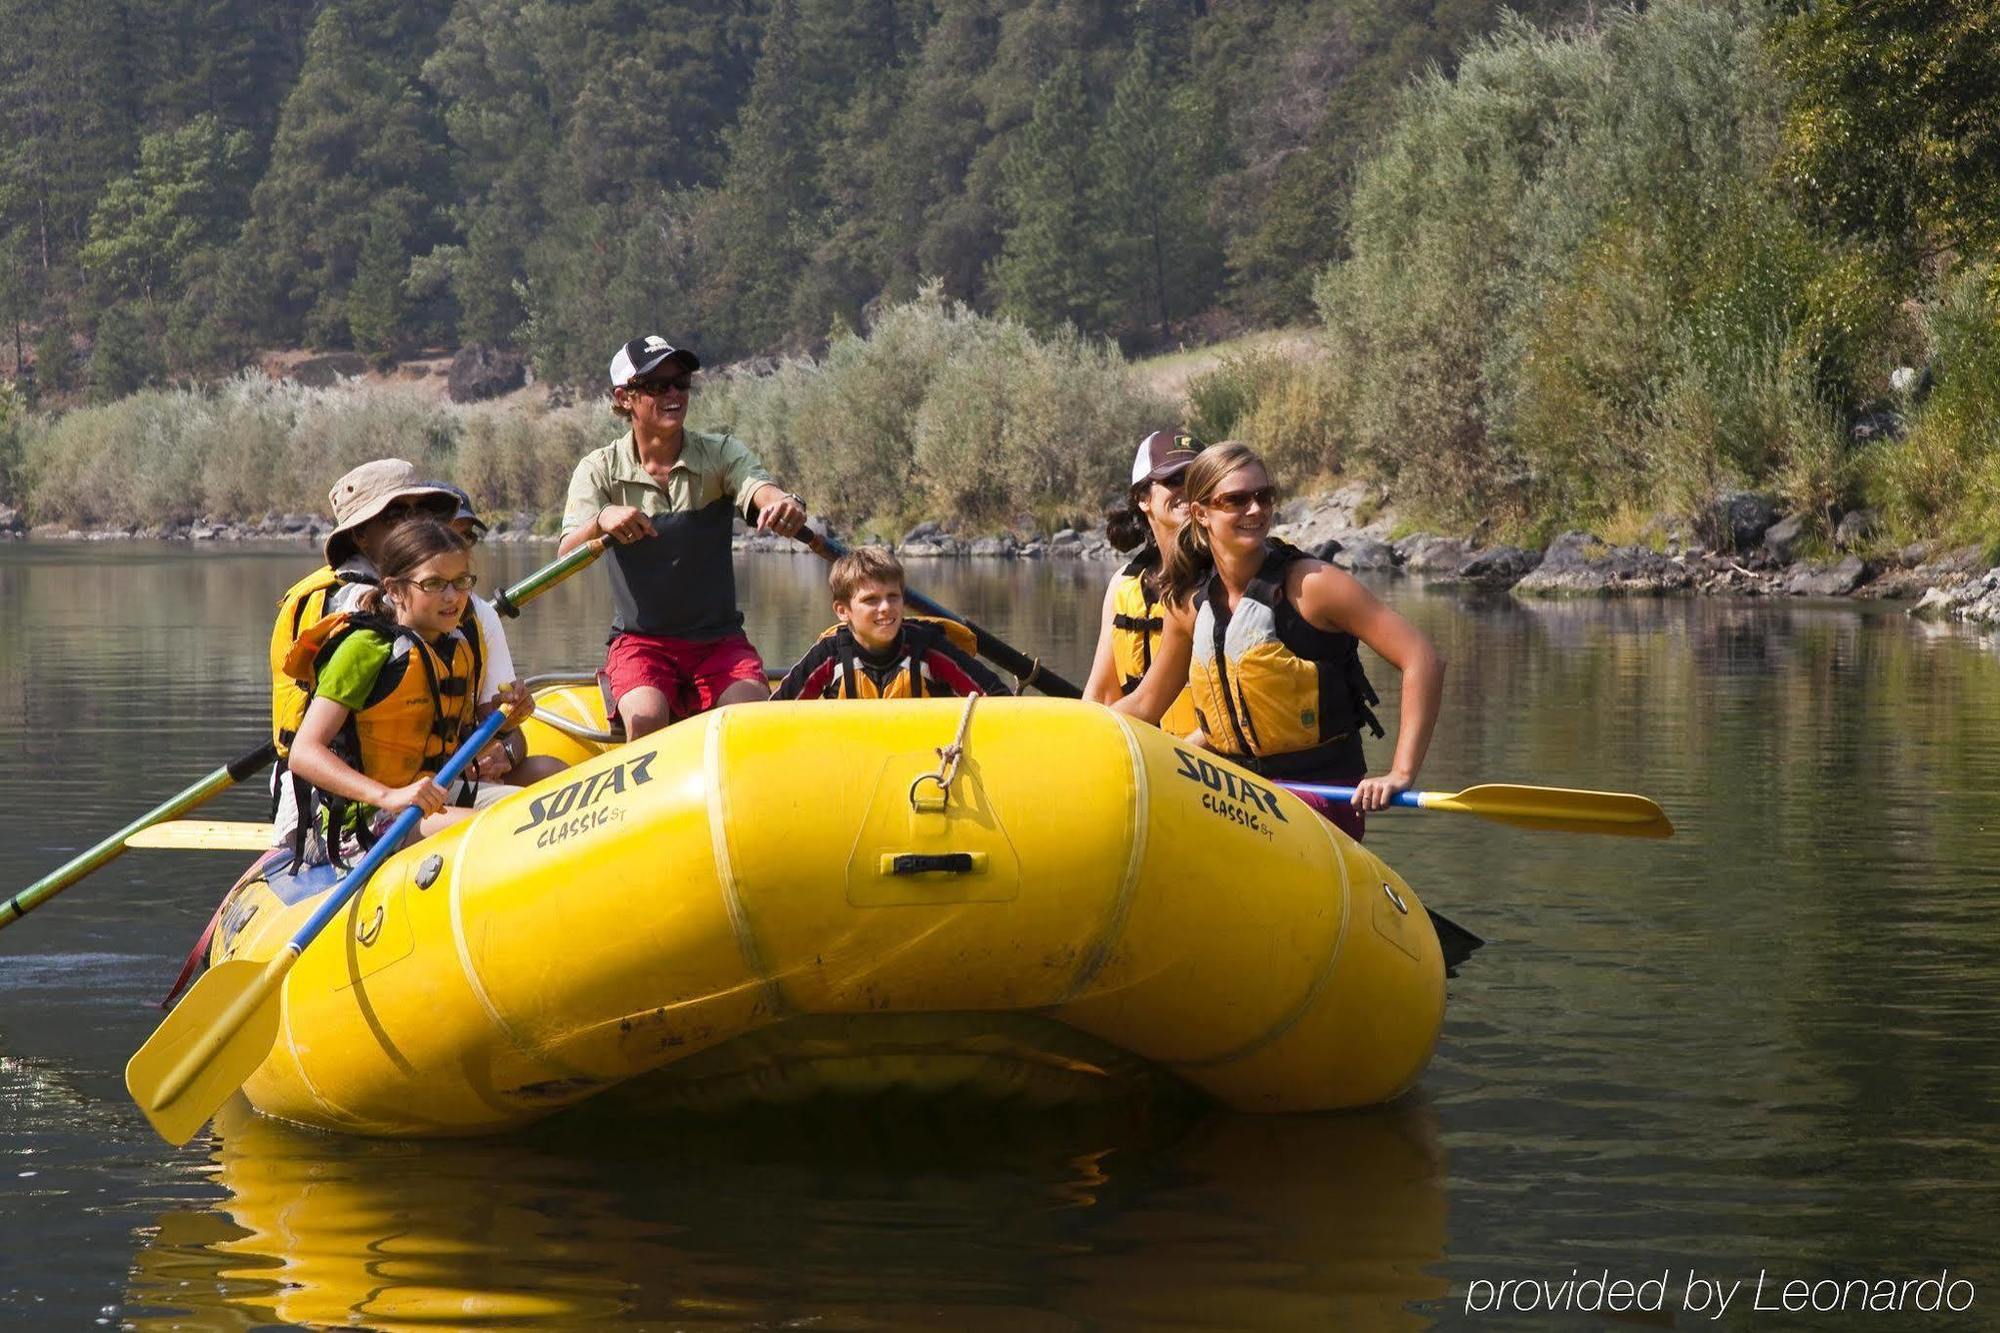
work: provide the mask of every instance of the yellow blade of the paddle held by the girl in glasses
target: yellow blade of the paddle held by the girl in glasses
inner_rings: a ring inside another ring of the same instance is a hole
[[[270,1055],[294,957],[214,965],[126,1063],[126,1091],[162,1139],[192,1139]]]

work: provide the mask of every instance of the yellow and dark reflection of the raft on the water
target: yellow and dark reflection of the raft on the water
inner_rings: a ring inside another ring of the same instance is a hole
[[[138,1329],[1420,1327],[1444,1295],[1436,1117],[1010,1115],[822,1099],[618,1109],[532,1137],[374,1143],[232,1103],[214,1207],[162,1213]]]

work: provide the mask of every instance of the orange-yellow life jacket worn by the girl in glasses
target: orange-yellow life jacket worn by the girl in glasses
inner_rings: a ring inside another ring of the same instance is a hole
[[[348,634],[370,628],[392,638],[390,664],[402,660],[402,675],[380,699],[348,717],[332,747],[340,759],[386,787],[436,773],[450,759],[462,733],[472,731],[478,705],[480,648],[474,638],[452,630],[440,652],[422,634],[394,620],[336,610],[308,624],[284,658],[284,671],[310,699],[318,671]],[[300,713],[304,717],[304,713]],[[300,825],[306,811],[300,809]]]

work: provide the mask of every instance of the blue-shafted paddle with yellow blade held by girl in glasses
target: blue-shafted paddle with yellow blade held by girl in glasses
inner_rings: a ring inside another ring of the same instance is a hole
[[[506,711],[496,709],[480,723],[444,763],[434,779],[436,785],[456,783],[486,743],[500,735],[506,721]],[[194,1131],[222,1109],[230,1093],[256,1073],[278,1039],[278,989],[298,955],[360,893],[422,819],[424,813],[414,805],[398,815],[362,863],[346,873],[320,909],[268,963],[232,959],[208,969],[126,1063],[126,1091],[162,1139],[176,1145],[192,1139]]]

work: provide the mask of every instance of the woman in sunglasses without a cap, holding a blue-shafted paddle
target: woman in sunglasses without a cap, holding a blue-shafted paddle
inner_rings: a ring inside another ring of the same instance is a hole
[[[1416,781],[1444,658],[1352,574],[1270,534],[1278,492],[1248,444],[1204,450],[1184,492],[1188,520],[1160,570],[1160,648],[1112,707],[1154,721],[1186,687],[1208,749],[1278,781],[1352,785],[1352,805],[1326,815],[1362,837],[1362,813]],[[1362,755],[1362,727],[1380,737],[1382,725],[1360,644],[1402,673],[1396,755],[1380,777],[1366,777]]]

